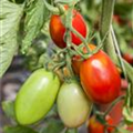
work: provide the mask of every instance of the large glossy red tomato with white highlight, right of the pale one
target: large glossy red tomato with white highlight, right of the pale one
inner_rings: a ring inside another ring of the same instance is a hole
[[[120,95],[119,71],[103,51],[81,63],[80,79],[88,96],[98,104],[110,103]]]

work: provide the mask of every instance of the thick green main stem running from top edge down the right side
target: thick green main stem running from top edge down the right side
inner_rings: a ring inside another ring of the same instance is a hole
[[[101,22],[101,37],[103,38],[106,31],[111,31],[111,23],[112,23],[112,16],[113,16],[113,9],[114,9],[114,2],[115,0],[103,0],[102,2],[102,22]],[[115,52],[115,48],[119,51],[119,53]],[[110,32],[109,37],[105,40],[104,44],[105,52],[111,57],[113,62],[122,68],[123,73],[125,74],[125,78],[127,75],[127,80],[131,83],[131,89],[127,89],[126,98],[129,100],[132,100],[132,92],[133,92],[133,68],[121,58],[120,50],[117,49],[117,43],[115,39],[115,34],[113,32]],[[125,69],[124,69],[125,68]],[[127,101],[125,99],[125,104],[127,104]]]

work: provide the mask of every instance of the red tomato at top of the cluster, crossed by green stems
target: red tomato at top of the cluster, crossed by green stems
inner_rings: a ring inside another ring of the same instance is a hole
[[[63,17],[64,16],[53,14],[50,19],[51,38],[60,48],[66,47],[66,43],[64,42],[65,27],[62,22]],[[82,34],[84,38],[86,37],[86,24],[83,20],[83,17],[76,10],[73,10],[72,25],[80,34]],[[82,43],[82,41],[74,33],[71,33],[71,37],[74,44],[79,45]]]

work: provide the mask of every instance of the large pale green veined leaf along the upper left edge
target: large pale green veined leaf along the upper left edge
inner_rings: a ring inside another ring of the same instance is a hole
[[[4,74],[17,52],[17,34],[22,13],[23,4],[0,0],[0,76]]]

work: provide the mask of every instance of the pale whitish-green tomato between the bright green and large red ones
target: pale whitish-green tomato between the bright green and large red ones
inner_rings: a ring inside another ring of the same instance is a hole
[[[91,106],[92,103],[76,82],[62,84],[58,95],[58,111],[65,126],[78,127],[83,124]]]

